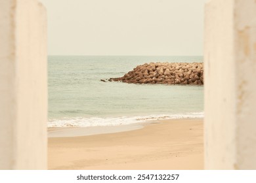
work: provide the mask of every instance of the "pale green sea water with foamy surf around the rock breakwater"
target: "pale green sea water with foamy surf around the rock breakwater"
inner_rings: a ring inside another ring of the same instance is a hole
[[[202,56],[49,56],[49,127],[102,126],[203,117],[203,86],[127,84],[100,79],[150,62]]]

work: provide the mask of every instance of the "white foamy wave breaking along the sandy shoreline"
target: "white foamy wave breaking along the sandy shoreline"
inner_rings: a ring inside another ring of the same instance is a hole
[[[149,116],[122,116],[116,118],[63,118],[61,120],[50,120],[48,127],[93,127],[111,125],[129,125],[154,120],[169,120],[182,118],[203,118],[203,112],[189,114],[156,114]]]

